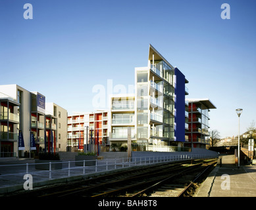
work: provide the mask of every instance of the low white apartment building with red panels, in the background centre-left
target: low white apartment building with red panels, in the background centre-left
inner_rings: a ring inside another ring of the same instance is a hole
[[[96,111],[68,116],[68,151],[91,151],[95,147],[109,145],[109,112]],[[90,141],[91,140],[91,141]],[[91,144],[91,145],[90,145]],[[87,148],[84,148],[87,145]],[[89,146],[90,145],[90,146]],[[97,148],[94,148],[93,151]]]

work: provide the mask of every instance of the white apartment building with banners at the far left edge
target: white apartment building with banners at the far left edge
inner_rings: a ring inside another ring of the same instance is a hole
[[[18,85],[0,85],[1,157],[20,157],[30,152],[30,132],[34,133],[36,153],[66,151],[67,112],[53,103],[47,105],[48,111],[45,104],[45,96],[38,92]],[[18,131],[22,131],[24,138],[24,150],[20,151]]]

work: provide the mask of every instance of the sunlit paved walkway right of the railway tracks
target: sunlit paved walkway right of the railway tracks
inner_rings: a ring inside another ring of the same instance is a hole
[[[234,156],[222,156],[222,165],[210,173],[196,197],[256,197],[256,165],[235,165]]]

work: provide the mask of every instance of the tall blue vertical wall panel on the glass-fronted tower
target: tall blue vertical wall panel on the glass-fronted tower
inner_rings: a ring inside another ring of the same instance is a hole
[[[185,76],[175,68],[174,75],[176,75],[176,88],[174,93],[176,95],[176,102],[174,107],[176,108],[176,116],[174,116],[174,122],[176,123],[176,130],[174,136],[176,141],[185,141]]]

